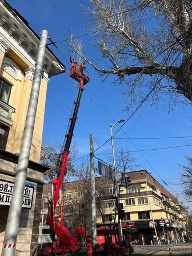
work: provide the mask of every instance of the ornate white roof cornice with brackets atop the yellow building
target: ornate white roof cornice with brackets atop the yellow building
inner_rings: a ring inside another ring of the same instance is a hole
[[[39,37],[29,23],[6,1],[0,1],[0,38],[18,55],[21,55],[30,67],[35,67]],[[65,65],[48,47],[46,47],[44,70],[49,77],[65,72]]]

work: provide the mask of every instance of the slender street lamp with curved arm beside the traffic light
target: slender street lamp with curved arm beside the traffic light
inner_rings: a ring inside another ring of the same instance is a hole
[[[110,131],[111,131],[111,146],[112,146],[112,152],[113,152],[113,167],[114,167],[114,176],[115,176],[115,190],[116,190],[116,202],[117,202],[117,210],[119,209],[119,194],[118,194],[118,184],[117,184],[117,171],[115,166],[115,154],[114,154],[114,145],[113,145],[113,127],[117,125],[117,123],[123,123],[125,122],[125,119],[119,119],[116,123],[113,125],[110,125]],[[117,211],[118,213],[119,211]],[[118,230],[119,230],[119,242],[122,242],[123,237],[123,231],[121,226],[121,218],[119,218],[118,214]]]

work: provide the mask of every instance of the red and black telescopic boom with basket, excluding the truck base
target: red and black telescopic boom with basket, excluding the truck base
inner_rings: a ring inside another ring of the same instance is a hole
[[[79,109],[79,104],[81,101],[82,91],[84,90],[84,86],[86,83],[89,82],[89,75],[85,75],[79,72],[75,67],[71,67],[70,69],[70,77],[74,78],[76,81],[79,82],[79,91],[77,95],[77,100],[74,102],[75,107],[73,111],[73,116],[70,118],[70,126],[69,130],[67,131],[66,138],[65,138],[65,146],[64,150],[61,153],[60,166],[59,166],[59,174],[56,179],[51,181],[52,183],[52,200],[50,203],[49,213],[47,215],[46,223],[50,225],[51,233],[53,237],[53,244],[51,247],[47,247],[47,253],[63,253],[63,252],[77,252],[81,247],[77,246],[78,238],[74,236],[73,233],[65,225],[63,225],[63,218],[62,218],[62,207],[61,209],[61,221],[55,219],[55,208],[57,206],[57,202],[59,199],[59,192],[61,189],[63,176],[66,174],[66,163],[67,158],[69,155],[71,139],[73,137],[73,131],[75,127],[75,122],[77,120],[77,113]],[[55,235],[57,235],[59,239],[59,243],[61,245],[58,246],[58,241],[55,239]],[[47,254],[49,255],[49,254]]]

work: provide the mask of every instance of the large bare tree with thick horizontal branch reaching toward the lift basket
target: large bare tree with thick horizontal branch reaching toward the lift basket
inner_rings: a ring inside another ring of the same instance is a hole
[[[172,103],[179,95],[192,101],[190,0],[94,0],[86,12],[102,62],[86,57],[73,37],[70,44],[105,78],[127,83],[130,104],[157,102],[163,94]]]

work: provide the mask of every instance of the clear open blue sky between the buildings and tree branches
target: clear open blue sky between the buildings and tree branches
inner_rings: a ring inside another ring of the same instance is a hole
[[[87,33],[84,28],[90,21],[83,14],[81,7],[82,2],[83,5],[89,4],[87,0],[41,0],[35,1],[35,4],[30,6],[29,1],[26,0],[8,0],[8,2],[27,19],[36,33],[40,33],[42,29],[47,29],[53,41],[69,38],[71,31],[73,31],[75,37]],[[92,61],[97,61],[98,56],[92,46],[92,41],[93,38],[90,36],[82,37],[87,57],[91,58]],[[53,46],[51,46],[51,50],[66,65],[67,69],[65,74],[60,74],[50,79],[43,130],[43,142],[55,146],[62,142],[65,137],[69,121],[67,113],[71,113],[78,86],[77,82],[69,77],[69,45],[67,45],[67,42],[61,42],[57,46],[62,54]],[[91,69],[90,66],[87,66],[87,70],[90,72],[91,81],[83,92],[78,124],[75,127],[73,137],[73,143],[78,147],[77,158],[89,154],[89,134],[93,134],[95,141],[102,145],[110,137],[110,124],[118,119],[127,119],[133,111],[124,111],[126,98],[122,92],[126,89],[125,85],[115,86],[110,83],[110,80],[102,83],[98,73]],[[141,117],[139,117],[140,114]],[[167,106],[159,105],[158,109],[155,106],[151,107],[144,104],[142,109],[126,123],[123,131],[118,133],[117,138],[126,139],[115,139],[115,145],[127,146],[130,151],[190,145],[192,144],[192,138],[131,141],[127,139],[127,137],[190,136],[192,134],[190,116],[190,106],[175,106],[173,111],[168,113],[168,104]],[[118,126],[114,127],[114,132],[116,129],[118,129]],[[123,135],[125,131],[127,137]],[[97,146],[97,143],[95,143],[95,147]],[[105,159],[105,155],[102,155],[104,151],[111,153],[110,143],[98,150],[95,155]],[[182,187],[178,185],[178,182],[181,181],[181,167],[178,166],[178,163],[186,164],[183,156],[191,155],[191,146],[142,151],[141,153],[133,153],[133,157],[141,163],[141,169],[152,171],[152,175],[159,182],[162,183],[163,179],[169,184],[169,186],[165,186],[167,190],[173,194],[178,193],[180,198],[183,199],[181,195]],[[87,159],[89,161],[89,158],[83,158],[85,161]],[[96,162],[95,165],[97,165]]]

